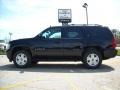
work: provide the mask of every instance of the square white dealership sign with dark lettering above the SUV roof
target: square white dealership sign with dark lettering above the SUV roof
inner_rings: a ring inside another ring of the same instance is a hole
[[[58,9],[58,21],[62,23],[71,22],[71,9]]]

